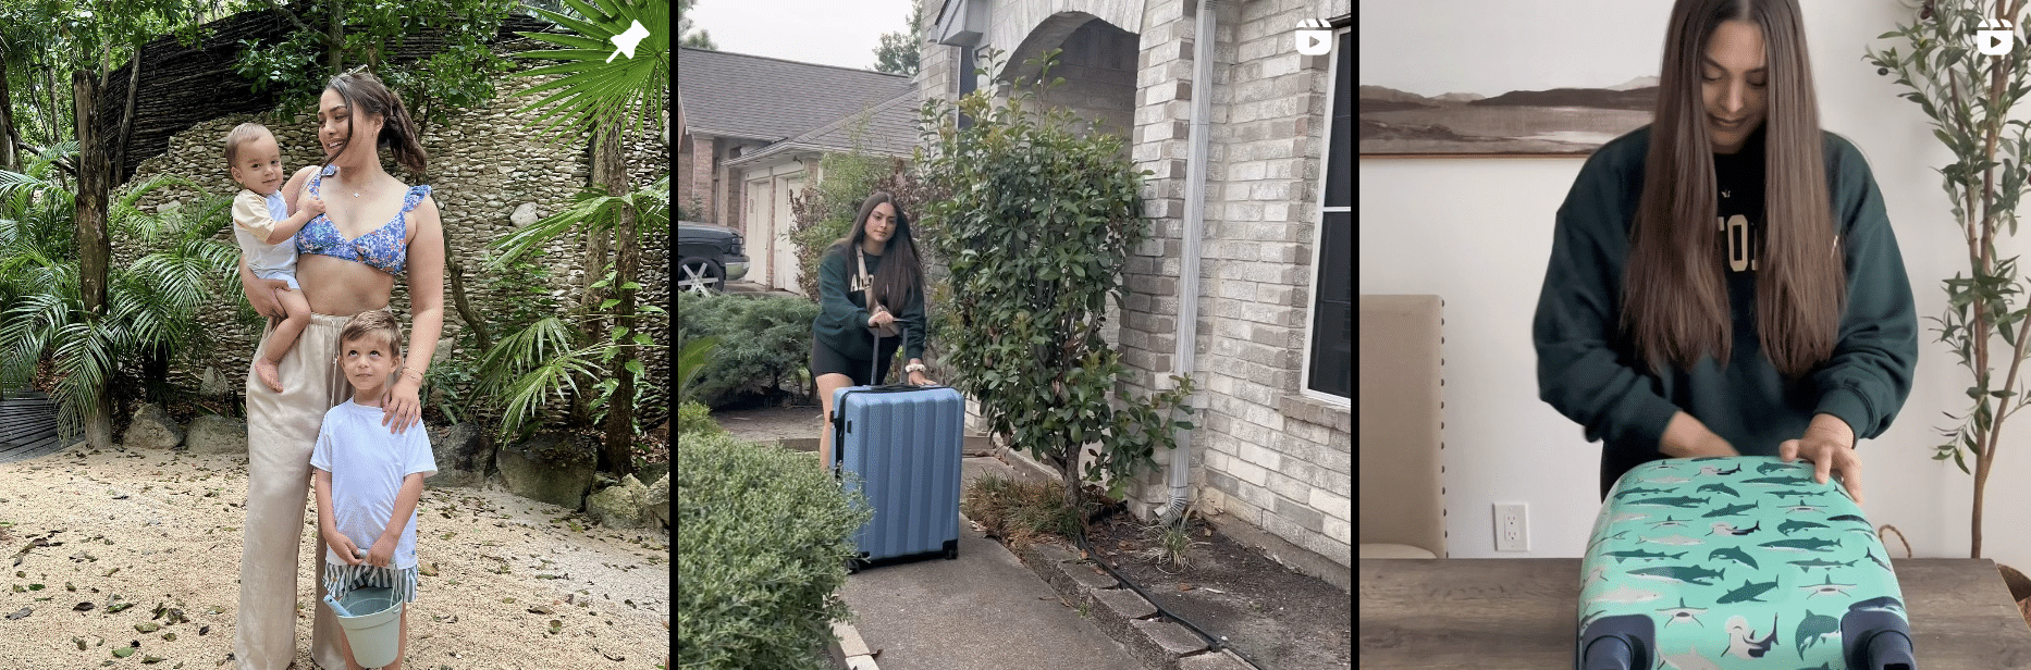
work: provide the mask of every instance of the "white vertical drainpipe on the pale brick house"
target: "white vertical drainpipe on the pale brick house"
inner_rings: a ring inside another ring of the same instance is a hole
[[[1206,140],[1213,122],[1213,18],[1215,0],[1198,0],[1198,37],[1192,41],[1192,126],[1186,130],[1190,154],[1184,177],[1184,258],[1178,264],[1178,349],[1176,372],[1190,376],[1198,359],[1198,240],[1206,229]],[[1184,402],[1192,402],[1186,398]],[[1192,412],[1194,422],[1204,422],[1204,412]],[[1192,432],[1172,428],[1178,449],[1170,455],[1170,501],[1158,508],[1160,520],[1184,512],[1192,501],[1188,485],[1192,477]]]

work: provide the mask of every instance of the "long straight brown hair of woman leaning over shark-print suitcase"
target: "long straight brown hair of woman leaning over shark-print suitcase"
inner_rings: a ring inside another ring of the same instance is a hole
[[[1714,156],[1700,97],[1700,59],[1726,20],[1759,24],[1769,59],[1757,337],[1783,376],[1801,378],[1834,353],[1848,274],[1795,0],[1680,0],[1672,8],[1621,325],[1653,372],[1661,359],[1692,370],[1706,353],[1728,361],[1734,319],[1716,252]]]

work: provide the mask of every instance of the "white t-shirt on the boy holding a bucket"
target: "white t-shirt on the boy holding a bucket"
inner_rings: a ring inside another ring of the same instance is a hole
[[[325,412],[325,424],[317,428],[317,447],[311,449],[311,467],[331,473],[331,522],[366,550],[388,528],[388,518],[394,516],[394,497],[402,491],[402,477],[410,473],[435,475],[437,457],[431,453],[431,434],[422,424],[390,434],[388,426],[382,426],[382,408],[345,400]],[[329,546],[325,562],[345,564]],[[408,516],[408,526],[402,528],[402,542],[394,548],[392,564],[396,568],[416,566],[414,512]]]

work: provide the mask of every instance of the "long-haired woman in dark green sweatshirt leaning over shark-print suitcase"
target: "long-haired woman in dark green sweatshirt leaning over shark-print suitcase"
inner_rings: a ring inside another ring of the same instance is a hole
[[[1602,441],[1600,495],[1657,459],[1838,473],[1911,394],[1917,319],[1860,150],[1820,130],[1793,0],[1680,0],[1653,124],[1558,209],[1537,390]]]

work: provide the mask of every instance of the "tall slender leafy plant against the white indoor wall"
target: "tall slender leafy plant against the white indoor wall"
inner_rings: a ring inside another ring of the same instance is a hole
[[[1964,453],[1974,453],[1974,512],[1972,546],[1968,554],[1982,556],[1982,497],[1988,489],[1988,475],[1996,461],[1996,447],[2003,445],[2003,424],[2025,406],[2025,317],[2031,307],[2021,307],[2023,288],[2017,274],[2017,256],[2003,258],[1996,252],[1996,238],[2007,229],[2017,236],[2017,205],[2025,193],[2025,158],[2031,156],[2031,124],[2013,120],[2011,112],[2023,99],[2025,79],[2031,75],[2031,53],[2011,43],[2005,55],[1982,55],[1968,49],[1968,37],[1976,35],[1984,20],[2003,20],[2005,26],[2021,26],[2027,18],[2025,2],[1976,2],[1940,0],[1925,2],[1919,16],[1897,30],[1877,39],[1899,39],[1897,47],[1877,53],[1864,49],[1864,61],[1877,67],[1879,75],[1897,75],[1897,83],[1911,87],[1899,93],[1919,106],[1931,118],[1934,136],[1954,154],[1954,160],[1938,169],[1948,203],[1954,211],[1962,240],[1968,244],[1968,272],[1946,280],[1946,315],[1940,323],[1940,341],[1954,347],[1960,365],[1972,374],[1968,386],[1970,408],[1962,416],[1952,416],[1958,424],[1944,428],[1946,443],[1934,447],[1934,461],[1954,459],[1968,471]],[[2011,30],[2009,35],[2015,35]],[[2015,130],[2011,130],[2015,126]],[[2005,347],[1992,349],[1994,341]],[[2001,382],[2001,384],[1999,384]]]

